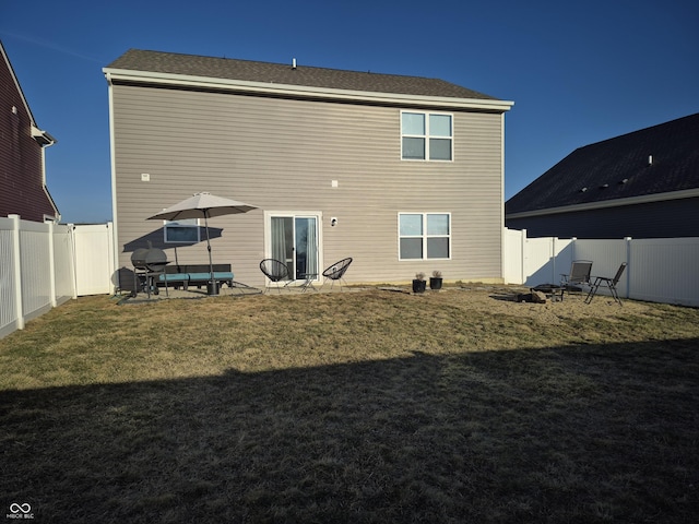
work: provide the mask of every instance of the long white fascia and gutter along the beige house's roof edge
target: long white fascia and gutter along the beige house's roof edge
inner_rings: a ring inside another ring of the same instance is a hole
[[[308,98],[328,98],[345,102],[363,102],[372,104],[420,105],[428,107],[452,107],[455,109],[479,109],[488,111],[509,111],[513,102],[452,98],[446,96],[404,95],[400,93],[377,93],[370,91],[334,90],[311,87],[307,85],[274,84],[271,82],[248,82],[242,80],[215,79],[211,76],[192,76],[187,74],[152,73],[126,69],[103,69],[112,81],[149,82],[162,85],[179,85],[183,87],[229,90],[247,93],[261,93],[275,96],[294,96]]]

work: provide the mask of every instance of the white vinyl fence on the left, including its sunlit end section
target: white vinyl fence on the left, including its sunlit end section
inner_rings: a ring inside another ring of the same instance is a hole
[[[0,337],[70,298],[111,293],[111,231],[0,217]]]

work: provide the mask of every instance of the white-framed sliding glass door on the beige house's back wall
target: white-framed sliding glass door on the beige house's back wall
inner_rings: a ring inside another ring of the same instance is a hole
[[[318,274],[319,223],[318,215],[270,215],[269,255],[286,264],[289,279]]]

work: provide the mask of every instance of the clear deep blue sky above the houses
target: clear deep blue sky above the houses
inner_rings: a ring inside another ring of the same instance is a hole
[[[111,219],[107,84],[129,48],[440,78],[513,100],[505,196],[577,147],[699,112],[699,2],[0,0],[63,222]]]

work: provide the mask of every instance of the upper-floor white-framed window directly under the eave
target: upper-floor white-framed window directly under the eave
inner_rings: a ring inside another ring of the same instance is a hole
[[[401,158],[451,160],[452,116],[441,112],[401,112]]]

